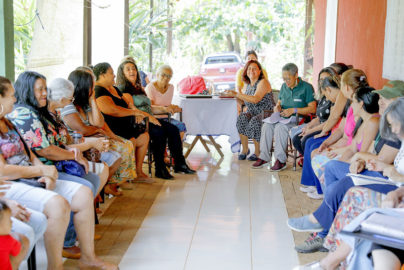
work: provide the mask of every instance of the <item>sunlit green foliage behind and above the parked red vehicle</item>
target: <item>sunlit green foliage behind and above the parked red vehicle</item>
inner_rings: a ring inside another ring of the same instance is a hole
[[[191,59],[194,73],[208,53],[228,51],[226,35],[240,36],[246,47],[262,56],[273,88],[279,89],[281,68],[288,62],[303,66],[305,0],[203,0],[187,3],[174,14],[175,46]],[[302,73],[302,72],[301,72]]]

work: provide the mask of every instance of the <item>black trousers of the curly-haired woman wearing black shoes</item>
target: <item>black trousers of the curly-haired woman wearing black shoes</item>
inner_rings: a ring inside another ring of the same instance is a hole
[[[150,146],[153,151],[155,168],[162,169],[165,167],[164,152],[167,144],[171,156],[174,158],[175,165],[181,166],[185,164],[181,136],[179,135],[178,128],[164,120],[157,120],[161,126],[149,123]]]

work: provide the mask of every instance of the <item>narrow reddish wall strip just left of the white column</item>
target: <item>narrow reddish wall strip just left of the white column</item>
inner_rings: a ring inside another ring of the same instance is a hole
[[[317,80],[319,72],[323,69],[324,63],[324,44],[326,34],[326,12],[327,1],[315,1],[316,18],[314,23],[314,53],[313,53],[313,87],[317,92]]]

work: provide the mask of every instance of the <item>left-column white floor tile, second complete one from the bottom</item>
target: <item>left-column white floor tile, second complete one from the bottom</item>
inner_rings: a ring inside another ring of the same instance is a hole
[[[191,243],[194,229],[140,227],[132,242]]]

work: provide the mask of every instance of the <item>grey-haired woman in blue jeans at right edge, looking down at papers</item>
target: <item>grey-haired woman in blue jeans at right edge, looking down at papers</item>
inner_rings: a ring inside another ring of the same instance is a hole
[[[404,123],[404,115],[402,115],[402,111],[404,111],[404,97],[399,97],[385,110],[380,123],[380,134],[382,138],[389,141],[397,139],[401,141],[400,149],[394,159],[394,165],[379,160],[383,157],[377,156],[377,158],[371,158],[366,161],[366,166],[368,169],[363,170],[361,172],[362,174],[386,178],[389,177],[390,179],[398,182],[404,181],[402,177],[402,174],[404,174],[404,159],[402,159],[404,155],[404,144],[402,143],[402,140],[404,139],[404,124],[402,124]],[[387,147],[387,150],[390,150],[389,148],[391,148],[391,146],[387,145],[387,143],[384,143],[380,152],[386,152],[386,149],[383,150],[383,147]],[[387,160],[388,159],[385,159],[384,161]],[[347,165],[349,167],[349,164]],[[348,167],[345,165],[345,169]],[[339,173],[341,174],[341,171],[339,171]],[[354,183],[349,176],[345,176],[338,181],[334,181],[329,185],[327,195],[325,196],[324,201],[319,209],[312,214],[303,216],[301,218],[289,219],[288,226],[299,232],[319,232],[317,238],[324,239],[334,220],[335,214],[338,211],[338,207],[345,196],[345,193],[352,186],[354,186]],[[381,192],[383,194],[387,194],[389,191],[397,188],[395,185],[384,184],[369,184],[364,185],[364,187]]]

